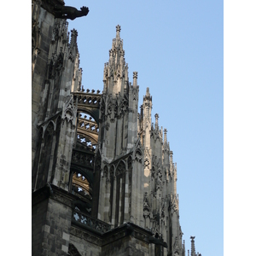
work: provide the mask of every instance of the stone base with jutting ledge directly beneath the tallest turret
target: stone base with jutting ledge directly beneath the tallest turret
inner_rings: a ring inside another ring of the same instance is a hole
[[[102,233],[90,227],[72,224],[70,245],[85,255],[141,255],[149,256],[154,244],[148,242],[152,233],[134,224],[123,224]]]

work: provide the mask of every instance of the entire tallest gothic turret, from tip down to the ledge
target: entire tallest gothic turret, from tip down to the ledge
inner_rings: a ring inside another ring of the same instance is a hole
[[[95,170],[100,183],[98,201],[92,214],[113,227],[132,222],[143,226],[143,149],[137,138],[137,72],[129,83],[120,26],[104,65],[98,151],[101,170]],[[101,174],[99,174],[101,172]],[[97,188],[98,189],[98,188]],[[99,190],[98,190],[99,191]]]

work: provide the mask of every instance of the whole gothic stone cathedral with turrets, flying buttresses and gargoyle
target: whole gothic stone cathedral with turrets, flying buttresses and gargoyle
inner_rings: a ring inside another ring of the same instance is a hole
[[[32,0],[32,255],[185,256],[177,165],[119,25],[101,90],[81,85],[67,19],[88,12]]]

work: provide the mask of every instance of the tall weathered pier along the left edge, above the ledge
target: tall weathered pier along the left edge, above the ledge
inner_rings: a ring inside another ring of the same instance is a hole
[[[71,90],[78,89],[73,77],[81,80],[81,70],[78,32],[71,32],[69,43],[67,25],[40,1],[32,2],[33,190],[47,182],[68,189],[77,113]],[[61,129],[56,130],[60,120]]]

